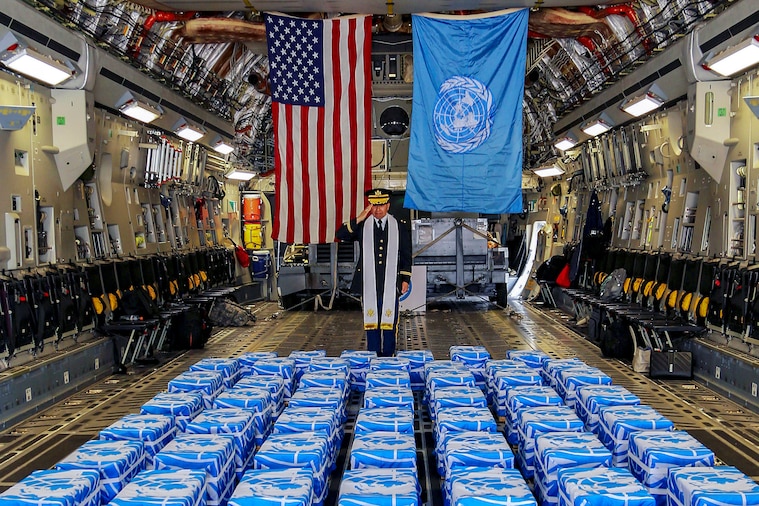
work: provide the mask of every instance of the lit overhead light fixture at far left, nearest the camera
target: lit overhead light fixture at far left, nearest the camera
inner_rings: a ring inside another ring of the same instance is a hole
[[[56,86],[74,77],[77,68],[29,47],[21,37],[7,29],[0,31],[0,63],[26,77]]]

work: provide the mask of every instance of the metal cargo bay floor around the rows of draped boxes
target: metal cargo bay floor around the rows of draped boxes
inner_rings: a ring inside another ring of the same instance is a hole
[[[609,374],[664,416],[710,447],[721,463],[759,481],[759,415],[695,381],[654,381],[629,364],[603,358],[599,349],[566,325],[555,312],[514,302],[511,314],[477,301],[440,301],[425,315],[402,317],[399,349],[429,349],[447,359],[452,345],[482,345],[493,358],[510,349],[538,349],[555,358],[579,357]],[[345,349],[363,349],[358,310],[282,311],[275,303],[256,304],[258,322],[251,327],[218,328],[203,350],[167,358],[160,366],[135,367],[113,375],[0,433],[0,491],[36,469],[52,467],[69,452],[112,422],[165,390],[170,379],[205,357],[235,357],[251,351],[325,349],[338,356]],[[349,418],[337,468],[325,506],[336,504],[340,476],[361,395],[351,396]],[[435,472],[432,423],[417,395],[415,437],[423,502],[442,506],[440,478]]]

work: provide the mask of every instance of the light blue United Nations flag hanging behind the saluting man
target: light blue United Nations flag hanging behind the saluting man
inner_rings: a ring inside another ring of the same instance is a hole
[[[528,9],[414,15],[414,121],[404,207],[522,212]]]

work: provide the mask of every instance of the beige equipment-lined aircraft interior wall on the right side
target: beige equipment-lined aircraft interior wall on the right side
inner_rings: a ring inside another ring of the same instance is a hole
[[[689,116],[702,97],[565,152],[565,174],[543,179],[540,191],[533,181],[524,194],[527,224],[546,220],[558,229],[547,230],[543,259],[580,241],[587,197],[596,191],[603,218],[613,220],[612,247],[755,261],[759,120],[744,97],[758,92],[755,73],[718,92],[715,114],[725,116],[727,128],[709,135],[724,148],[719,181],[691,156],[704,140],[688,145],[686,125],[697,120]]]

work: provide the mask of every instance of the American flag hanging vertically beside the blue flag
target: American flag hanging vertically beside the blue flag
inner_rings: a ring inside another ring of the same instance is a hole
[[[371,16],[266,16],[274,239],[335,241],[371,187]]]

